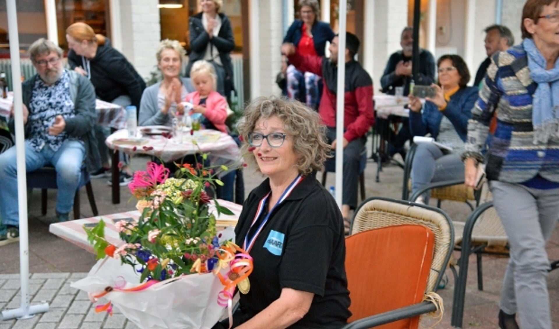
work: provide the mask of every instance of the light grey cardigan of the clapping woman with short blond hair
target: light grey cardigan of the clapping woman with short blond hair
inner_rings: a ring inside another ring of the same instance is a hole
[[[188,93],[195,91],[190,82],[190,78],[180,78],[184,88]],[[157,106],[157,95],[161,82],[158,82],[144,89],[141,96],[140,112],[138,116],[139,126],[164,126],[170,120],[169,113],[164,115]]]

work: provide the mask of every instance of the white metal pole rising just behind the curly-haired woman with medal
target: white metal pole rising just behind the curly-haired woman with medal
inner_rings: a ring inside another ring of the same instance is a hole
[[[338,87],[336,92],[336,202],[342,208],[345,96],[345,18],[347,1],[341,0],[338,15]]]

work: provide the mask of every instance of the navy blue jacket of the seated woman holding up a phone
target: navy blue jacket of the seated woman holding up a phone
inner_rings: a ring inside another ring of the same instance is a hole
[[[477,101],[477,87],[466,87],[459,89],[451,96],[444,111],[432,102],[425,102],[420,113],[410,111],[410,130],[412,136],[425,136],[431,134],[435,140],[439,135],[440,121],[443,115],[452,122],[454,129],[462,141],[466,141],[468,135],[468,120],[472,117],[472,108]]]

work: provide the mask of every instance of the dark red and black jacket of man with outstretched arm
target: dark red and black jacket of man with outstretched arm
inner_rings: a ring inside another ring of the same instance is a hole
[[[336,91],[338,67],[319,56],[289,56],[297,70],[309,71],[323,77],[323,92],[319,115],[328,127],[336,126]],[[362,137],[375,123],[373,112],[373,82],[361,64],[352,60],[345,63],[344,138],[349,142]]]

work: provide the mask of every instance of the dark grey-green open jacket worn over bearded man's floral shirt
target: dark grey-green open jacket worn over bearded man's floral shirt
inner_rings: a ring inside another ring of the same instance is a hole
[[[97,149],[97,139],[93,134],[93,126],[97,122],[95,90],[86,77],[82,77],[82,75],[75,71],[68,71],[68,74],[70,74],[70,96],[74,102],[76,115],[66,119],[64,131],[68,133],[70,138],[83,141],[86,149],[84,162],[87,166],[87,170],[97,170],[101,167],[101,156]],[[27,108],[29,108],[29,103],[31,102],[33,86],[35,85],[36,79],[40,79],[38,74],[25,80],[21,85],[23,104],[25,104]],[[10,119],[8,126],[11,131],[16,131],[13,117]],[[29,137],[30,132],[31,125],[25,125],[26,138]]]

